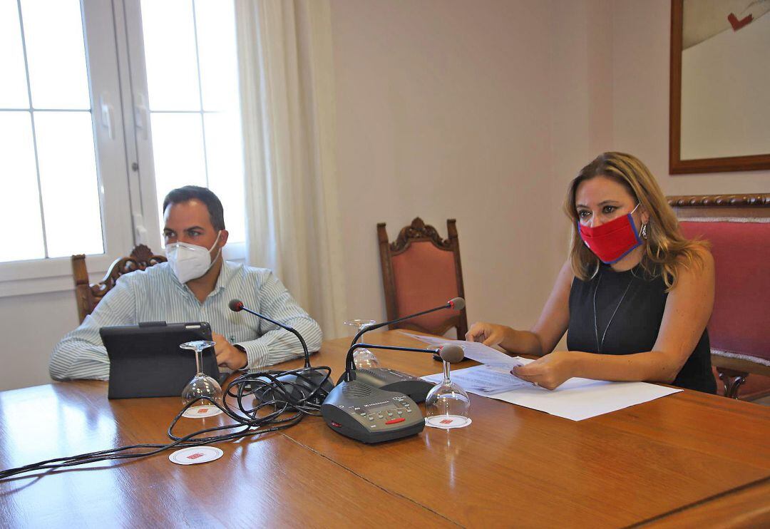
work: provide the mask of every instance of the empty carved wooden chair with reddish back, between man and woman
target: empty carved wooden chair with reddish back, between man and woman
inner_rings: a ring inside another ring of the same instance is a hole
[[[417,217],[401,229],[394,243],[389,243],[385,223],[377,224],[388,320],[465,296],[454,219],[447,220],[447,234],[448,239],[441,239],[433,226]],[[464,340],[468,331],[465,309],[460,313],[439,310],[390,326],[439,336],[452,327],[457,330],[457,337]]]

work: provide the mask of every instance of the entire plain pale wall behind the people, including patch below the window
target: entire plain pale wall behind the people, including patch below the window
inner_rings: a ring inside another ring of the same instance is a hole
[[[457,218],[470,320],[527,327],[564,261],[567,182],[598,152],[665,193],[770,190],[668,175],[668,0],[331,0],[350,317],[385,308],[377,222]],[[49,382],[72,292],[0,297],[0,390]]]

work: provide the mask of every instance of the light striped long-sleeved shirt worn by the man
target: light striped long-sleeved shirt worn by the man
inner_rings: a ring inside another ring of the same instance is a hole
[[[144,321],[209,322],[214,333],[246,350],[250,370],[302,355],[302,346],[292,333],[249,313],[229,310],[227,303],[233,298],[296,328],[310,351],[321,347],[320,326],[272,271],[224,261],[214,290],[200,303],[186,285],[179,283],[168,263],[160,263],[121,276],[94,312],[54,347],[49,363],[51,377],[107,380],[109,358],[99,328]]]

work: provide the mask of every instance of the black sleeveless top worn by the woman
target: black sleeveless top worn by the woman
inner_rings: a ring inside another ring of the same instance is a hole
[[[665,290],[662,276],[650,279],[641,266],[626,272],[615,272],[610,266],[602,264],[593,280],[582,281],[575,277],[570,290],[567,349],[602,354],[652,350],[668,298]],[[703,331],[698,345],[676,376],[674,385],[716,393],[708,330]]]

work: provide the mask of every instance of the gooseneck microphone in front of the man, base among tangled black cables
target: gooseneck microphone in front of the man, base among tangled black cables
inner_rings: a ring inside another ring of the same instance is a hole
[[[307,350],[307,344],[302,335],[294,327],[285,323],[280,323],[264,314],[251,310],[243,304],[241,300],[230,300],[229,309],[233,312],[246,311],[249,314],[269,321],[281,329],[287,330],[300,340],[305,354],[305,366],[289,371],[267,371],[264,373],[246,373],[233,380],[229,387],[239,386],[239,391],[243,393],[253,393],[254,397],[265,403],[288,402],[294,407],[303,407],[310,403],[315,407],[323,403],[326,395],[333,390],[334,383],[330,380],[331,369],[329,367],[310,366],[310,352]]]

